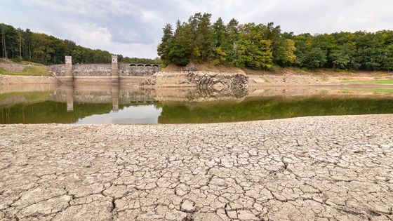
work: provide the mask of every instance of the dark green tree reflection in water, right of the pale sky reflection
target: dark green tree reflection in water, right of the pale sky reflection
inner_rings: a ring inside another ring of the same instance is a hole
[[[284,119],[299,116],[392,114],[393,99],[251,98],[242,102],[157,104],[159,123],[213,123]]]

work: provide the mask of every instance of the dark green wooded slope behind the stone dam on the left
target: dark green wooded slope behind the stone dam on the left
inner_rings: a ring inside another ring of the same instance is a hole
[[[76,45],[74,41],[58,39],[47,34],[34,33],[30,29],[15,28],[0,23],[0,58],[16,62],[26,60],[44,65],[62,64],[65,55],[72,56],[73,63],[110,63],[111,53]],[[156,64],[159,58],[128,58],[118,55],[124,63]]]

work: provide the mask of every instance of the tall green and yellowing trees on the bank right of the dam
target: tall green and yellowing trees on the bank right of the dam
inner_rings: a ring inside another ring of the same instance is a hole
[[[298,34],[280,26],[211,23],[211,14],[196,13],[186,22],[163,28],[157,52],[164,65],[211,62],[250,69],[301,67],[376,71],[393,69],[393,31]]]

